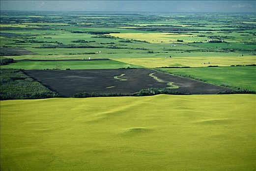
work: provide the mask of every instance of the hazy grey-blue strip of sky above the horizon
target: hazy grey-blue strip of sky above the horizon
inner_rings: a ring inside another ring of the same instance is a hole
[[[256,12],[256,0],[0,0],[1,10]]]

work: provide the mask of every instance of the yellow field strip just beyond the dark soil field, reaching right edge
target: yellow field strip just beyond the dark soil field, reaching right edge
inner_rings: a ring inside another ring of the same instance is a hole
[[[203,67],[209,65],[230,66],[237,64],[256,64],[256,56],[244,57],[176,57],[176,58],[119,58],[114,59],[123,63],[144,67],[190,66]],[[208,64],[210,63],[210,64]]]

